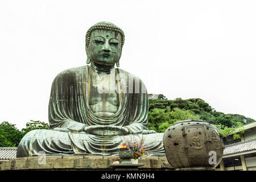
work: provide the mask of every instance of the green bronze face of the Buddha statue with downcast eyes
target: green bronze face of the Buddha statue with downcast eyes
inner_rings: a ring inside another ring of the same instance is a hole
[[[94,30],[87,48],[90,60],[101,65],[114,65],[121,56],[121,40],[118,32]]]

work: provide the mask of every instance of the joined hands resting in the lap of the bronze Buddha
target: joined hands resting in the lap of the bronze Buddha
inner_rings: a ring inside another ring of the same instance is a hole
[[[127,135],[129,130],[122,126],[113,126],[113,125],[93,125],[86,126],[84,128],[86,133],[98,136],[118,136],[118,135]]]

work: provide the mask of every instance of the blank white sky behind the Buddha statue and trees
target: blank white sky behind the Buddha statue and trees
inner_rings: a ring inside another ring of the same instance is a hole
[[[0,0],[0,122],[48,123],[55,76],[86,64],[85,34],[125,32],[120,68],[148,93],[256,119],[256,1]]]

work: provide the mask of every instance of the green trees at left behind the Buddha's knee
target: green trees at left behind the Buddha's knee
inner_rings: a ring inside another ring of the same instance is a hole
[[[0,147],[18,147],[24,135],[35,129],[49,129],[49,125],[41,121],[30,120],[26,123],[26,128],[20,131],[7,121],[0,123]]]

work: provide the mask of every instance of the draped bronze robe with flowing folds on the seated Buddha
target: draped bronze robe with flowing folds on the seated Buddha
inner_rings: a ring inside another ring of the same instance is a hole
[[[142,134],[147,130],[148,98],[146,87],[136,76],[116,69],[120,103],[113,115],[97,115],[88,104],[89,66],[67,69],[56,76],[49,100],[49,129],[32,130],[19,143],[17,157],[33,155],[118,155],[126,140],[144,138],[146,153],[165,155],[163,133]],[[104,137],[85,133],[86,126],[126,127],[127,135]]]

